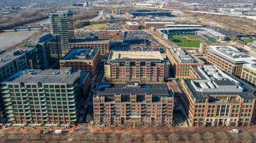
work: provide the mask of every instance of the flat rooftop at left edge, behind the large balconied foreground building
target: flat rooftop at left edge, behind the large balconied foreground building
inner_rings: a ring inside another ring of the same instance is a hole
[[[8,49],[7,51],[0,52],[0,67],[12,62],[13,60],[22,57],[25,53],[33,50],[35,48],[26,47],[26,48],[12,48]]]

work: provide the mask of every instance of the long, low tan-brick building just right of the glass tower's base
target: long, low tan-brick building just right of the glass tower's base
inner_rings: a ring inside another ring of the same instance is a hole
[[[69,41],[69,50],[73,47],[99,47],[101,55],[108,54],[110,52],[110,40],[109,39],[72,39]]]

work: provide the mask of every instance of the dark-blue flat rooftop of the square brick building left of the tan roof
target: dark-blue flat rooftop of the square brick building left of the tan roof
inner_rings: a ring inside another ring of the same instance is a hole
[[[93,60],[99,48],[72,48],[61,60]]]

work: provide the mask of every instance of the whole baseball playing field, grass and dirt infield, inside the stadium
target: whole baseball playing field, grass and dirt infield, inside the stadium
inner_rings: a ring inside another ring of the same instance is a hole
[[[169,38],[169,40],[172,40],[177,45],[180,45],[182,47],[199,47],[200,45],[200,36],[197,35],[172,36],[172,38]],[[206,41],[206,43],[210,44],[208,41]]]

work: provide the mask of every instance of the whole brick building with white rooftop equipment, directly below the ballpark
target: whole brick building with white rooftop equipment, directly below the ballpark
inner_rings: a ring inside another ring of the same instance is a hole
[[[202,60],[189,55],[181,48],[167,48],[167,59],[170,61],[170,69],[176,79],[188,78],[191,65],[204,64]]]

